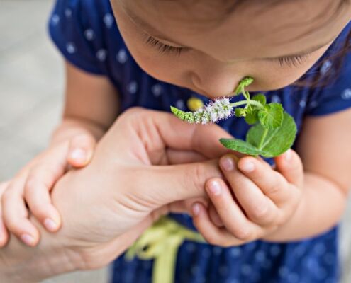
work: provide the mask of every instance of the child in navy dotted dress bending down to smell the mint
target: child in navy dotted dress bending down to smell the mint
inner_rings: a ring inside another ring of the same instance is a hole
[[[206,103],[207,98],[228,96],[240,79],[252,76],[255,83],[249,91],[265,91],[268,101],[282,103],[294,116],[299,129],[294,149],[304,171],[293,151],[286,156],[296,164],[296,178],[281,170],[282,157],[267,160],[277,162],[281,175],[254,158],[238,164],[227,161],[228,172],[222,164],[228,185],[216,180],[215,190],[208,189],[216,208],[210,209],[210,217],[216,225],[209,224],[201,204],[193,207],[194,223],[210,243],[235,247],[186,242],[177,255],[175,282],[337,282],[336,224],[351,185],[345,169],[351,160],[351,112],[346,110],[351,107],[351,55],[345,53],[351,5],[345,0],[318,5],[313,0],[262,2],[57,0],[50,34],[67,59],[65,119],[70,124],[64,122],[55,139],[67,142],[62,149],[47,151],[37,162],[42,167],[35,164],[28,173],[32,182],[11,184],[6,190],[8,229],[32,246],[38,241],[35,228],[23,222],[23,214],[13,217],[16,212],[9,205],[15,199],[23,202],[25,191],[30,192],[25,198],[33,214],[50,231],[57,231],[60,218],[53,207],[50,212],[43,209],[50,203],[44,192],[64,173],[62,158],[77,132],[99,139],[117,113],[127,108],[169,111],[174,105],[188,110],[190,98]],[[329,115],[334,112],[338,113]],[[220,125],[240,139],[248,129],[235,117]],[[91,150],[94,142],[89,144],[83,147]],[[87,163],[91,154],[76,152],[82,157],[78,165]],[[55,171],[50,180],[42,177],[43,160]],[[250,165],[247,171],[245,164]],[[267,178],[280,178],[270,196],[267,184],[262,184]],[[289,196],[285,200],[279,200],[281,190]],[[17,198],[11,198],[13,191]],[[261,209],[252,214],[247,208],[256,198],[262,200],[262,192],[269,196],[264,199],[267,210],[263,202],[256,202]],[[218,202],[218,195],[225,194]],[[16,207],[25,211],[23,205]],[[194,229],[189,216],[172,218]],[[151,267],[149,261],[118,258],[113,282],[150,282]]]

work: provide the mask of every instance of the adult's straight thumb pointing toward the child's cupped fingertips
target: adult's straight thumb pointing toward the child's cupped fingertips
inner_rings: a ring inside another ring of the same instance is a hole
[[[146,180],[150,181],[144,187],[157,207],[179,200],[206,197],[206,180],[223,178],[217,159],[173,166],[150,166],[150,171],[146,171]]]

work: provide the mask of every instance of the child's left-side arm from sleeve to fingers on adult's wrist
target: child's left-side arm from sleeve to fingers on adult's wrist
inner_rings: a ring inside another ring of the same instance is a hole
[[[67,89],[62,124],[48,149],[30,161],[6,186],[0,213],[0,246],[9,231],[30,246],[39,240],[38,229],[28,220],[30,212],[48,231],[60,228],[60,215],[50,200],[50,190],[67,171],[67,165],[89,163],[94,144],[118,114],[118,96],[102,76],[92,76],[67,64]],[[3,220],[4,223],[1,223]]]

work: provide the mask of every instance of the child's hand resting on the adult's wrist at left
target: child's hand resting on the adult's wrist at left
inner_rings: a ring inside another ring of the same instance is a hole
[[[89,134],[79,134],[55,144],[34,158],[8,183],[0,184],[1,193],[4,192],[0,206],[0,247],[9,241],[6,229],[28,246],[38,243],[39,232],[28,220],[29,211],[48,231],[60,229],[61,217],[52,205],[50,190],[69,166],[87,166],[95,144],[94,137]]]

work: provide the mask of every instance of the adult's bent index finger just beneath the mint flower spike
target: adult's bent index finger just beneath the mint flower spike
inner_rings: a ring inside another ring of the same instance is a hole
[[[143,108],[128,110],[120,119],[132,123],[149,154],[166,147],[197,151],[207,158],[218,158],[229,152],[219,139],[231,136],[215,124],[191,125],[171,113]]]

